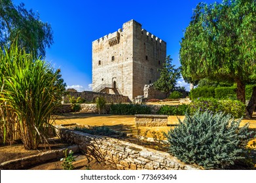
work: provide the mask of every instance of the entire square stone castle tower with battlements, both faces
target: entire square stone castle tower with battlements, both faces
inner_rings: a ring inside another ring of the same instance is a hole
[[[166,59],[166,42],[130,20],[115,33],[92,42],[92,90],[143,95],[145,84],[155,82]]]

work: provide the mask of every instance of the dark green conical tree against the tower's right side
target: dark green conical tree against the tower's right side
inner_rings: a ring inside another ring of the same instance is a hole
[[[172,58],[168,56],[166,62],[163,64],[160,71],[160,78],[154,82],[153,86],[156,90],[165,92],[166,96],[175,88],[177,79],[181,77],[180,69],[175,69],[175,65],[172,65]]]

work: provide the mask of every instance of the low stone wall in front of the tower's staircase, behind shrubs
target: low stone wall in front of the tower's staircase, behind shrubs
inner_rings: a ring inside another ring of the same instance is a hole
[[[104,97],[107,100],[107,103],[128,103],[130,102],[130,99],[127,96],[124,95],[113,95],[108,93],[98,93],[98,92],[68,92],[67,95],[71,95],[71,97],[75,97],[76,99],[78,97],[81,97],[81,99],[84,99],[87,102],[92,102],[96,99],[96,97]],[[67,95],[64,95],[63,101],[64,103],[69,103],[69,99],[67,98]]]

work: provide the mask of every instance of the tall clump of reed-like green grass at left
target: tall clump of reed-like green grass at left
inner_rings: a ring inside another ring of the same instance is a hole
[[[26,149],[47,142],[52,114],[64,92],[60,70],[33,59],[17,44],[0,50],[0,130],[4,142],[21,139]]]

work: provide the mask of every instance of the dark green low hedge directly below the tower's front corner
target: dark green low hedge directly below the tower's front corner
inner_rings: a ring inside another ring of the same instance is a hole
[[[139,104],[112,104],[110,114],[115,115],[134,115],[134,114],[151,114],[151,108]]]

